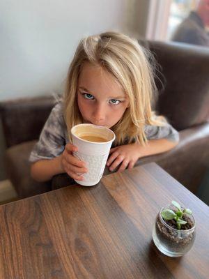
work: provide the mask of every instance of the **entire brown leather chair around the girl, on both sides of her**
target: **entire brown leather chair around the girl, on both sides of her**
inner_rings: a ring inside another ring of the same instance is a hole
[[[156,162],[196,193],[209,165],[209,50],[180,43],[141,42],[160,64],[156,83],[160,91],[156,110],[180,132],[175,149],[139,159],[137,165]],[[162,80],[164,85],[159,82]],[[38,183],[29,174],[29,153],[38,140],[53,97],[26,98],[0,103],[6,138],[6,169],[20,197],[72,184],[65,174]],[[108,174],[105,169],[104,174]]]

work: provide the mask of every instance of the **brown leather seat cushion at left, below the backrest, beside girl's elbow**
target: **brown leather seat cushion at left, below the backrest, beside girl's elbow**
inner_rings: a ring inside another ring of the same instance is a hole
[[[40,183],[31,178],[29,155],[36,142],[36,140],[24,142],[6,150],[6,172],[20,198],[51,190],[51,181]]]

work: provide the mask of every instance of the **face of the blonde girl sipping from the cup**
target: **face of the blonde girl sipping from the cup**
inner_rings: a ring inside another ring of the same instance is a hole
[[[116,78],[101,66],[84,63],[79,75],[77,102],[86,123],[111,128],[129,105]]]

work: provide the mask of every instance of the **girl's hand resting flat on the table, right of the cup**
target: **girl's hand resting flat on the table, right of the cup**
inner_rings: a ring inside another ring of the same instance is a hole
[[[107,160],[107,166],[110,171],[113,171],[118,165],[118,172],[122,172],[126,167],[132,169],[137,160],[141,157],[141,146],[139,144],[126,144],[114,147],[110,149],[109,159]]]

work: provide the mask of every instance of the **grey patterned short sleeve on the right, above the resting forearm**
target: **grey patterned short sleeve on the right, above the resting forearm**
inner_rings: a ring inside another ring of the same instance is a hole
[[[171,142],[178,142],[178,131],[175,130],[169,123],[164,123],[164,126],[147,125],[144,128],[144,133],[147,140],[167,139]]]

